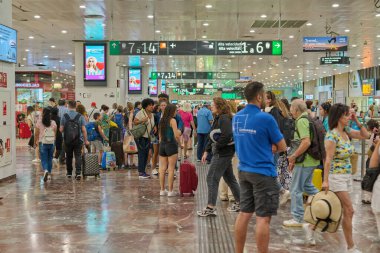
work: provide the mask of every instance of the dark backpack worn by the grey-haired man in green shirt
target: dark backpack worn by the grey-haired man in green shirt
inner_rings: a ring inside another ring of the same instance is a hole
[[[315,160],[323,161],[326,158],[325,150],[325,135],[326,130],[323,127],[322,121],[317,118],[311,118],[309,116],[302,116],[300,119],[307,119],[309,121],[310,129],[310,147],[307,149],[307,153]],[[298,133],[299,136],[299,133]]]

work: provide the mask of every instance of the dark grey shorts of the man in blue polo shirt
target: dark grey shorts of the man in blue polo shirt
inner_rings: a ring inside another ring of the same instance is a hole
[[[259,217],[277,215],[280,188],[275,177],[239,171],[240,211]]]

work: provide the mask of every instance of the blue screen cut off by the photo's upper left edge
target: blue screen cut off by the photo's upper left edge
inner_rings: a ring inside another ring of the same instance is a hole
[[[17,62],[17,31],[0,25],[0,61]]]

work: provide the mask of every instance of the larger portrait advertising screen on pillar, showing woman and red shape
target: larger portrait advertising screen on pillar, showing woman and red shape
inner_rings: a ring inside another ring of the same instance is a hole
[[[84,44],[84,80],[106,81],[106,44]]]

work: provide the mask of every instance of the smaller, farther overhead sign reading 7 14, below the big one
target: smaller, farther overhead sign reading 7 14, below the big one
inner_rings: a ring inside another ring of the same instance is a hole
[[[226,79],[240,78],[240,72],[151,72],[150,78],[155,79]]]

